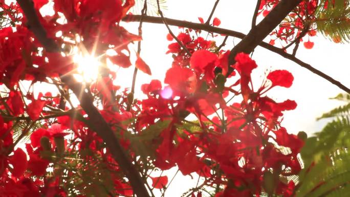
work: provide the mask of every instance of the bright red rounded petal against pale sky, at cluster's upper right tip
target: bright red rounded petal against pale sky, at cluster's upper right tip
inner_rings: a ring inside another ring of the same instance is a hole
[[[290,87],[293,84],[294,77],[292,73],[286,70],[272,71],[268,76],[271,80],[272,86]]]

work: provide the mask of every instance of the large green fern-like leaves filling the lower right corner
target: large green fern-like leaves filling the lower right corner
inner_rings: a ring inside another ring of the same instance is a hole
[[[321,132],[308,138],[301,150],[304,169],[299,174],[296,197],[349,196],[350,195],[350,121],[349,95],[333,98],[347,100],[321,118],[335,117]]]

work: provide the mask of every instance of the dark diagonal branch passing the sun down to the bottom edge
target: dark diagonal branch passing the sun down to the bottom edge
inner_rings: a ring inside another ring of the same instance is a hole
[[[59,52],[59,46],[56,45],[53,39],[47,37],[45,29],[40,24],[39,18],[33,7],[33,3],[30,0],[18,0],[17,2],[28,19],[29,29],[34,33],[41,45],[47,51]],[[118,162],[120,168],[125,173],[125,176],[130,181],[130,185],[133,187],[134,192],[139,197],[148,197],[149,194],[144,186],[139,172],[130,162],[112,128],[107,124],[102,115],[98,112],[97,108],[94,106],[92,95],[86,93],[84,91],[86,89],[85,86],[82,83],[77,82],[72,75],[61,77],[61,80],[70,87],[70,89],[79,99],[80,106],[83,108],[86,114],[88,114],[92,125],[94,125],[93,130],[95,130],[95,132],[106,143],[108,149],[110,149],[114,159]]]

